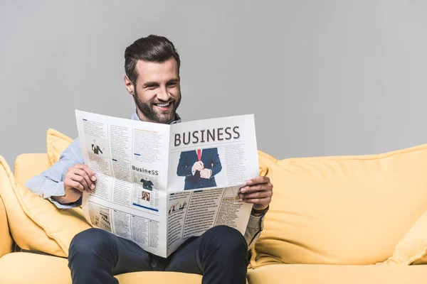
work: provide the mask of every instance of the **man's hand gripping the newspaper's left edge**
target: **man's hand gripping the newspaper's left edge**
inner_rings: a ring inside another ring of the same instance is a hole
[[[73,165],[65,174],[65,196],[57,196],[53,199],[61,204],[76,202],[84,191],[90,192],[95,189],[95,180],[95,174],[88,165]]]

